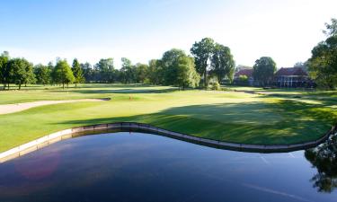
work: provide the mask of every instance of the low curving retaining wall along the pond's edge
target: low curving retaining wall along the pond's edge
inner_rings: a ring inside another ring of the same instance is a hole
[[[0,153],[0,163],[6,162],[13,158],[22,156],[24,154],[31,153],[36,151],[44,146],[56,143],[60,140],[72,138],[78,133],[93,132],[100,130],[109,130],[109,129],[141,129],[147,132],[153,132],[162,136],[169,136],[176,139],[181,139],[184,141],[192,142],[199,145],[208,145],[216,148],[224,148],[235,151],[244,151],[244,152],[259,152],[259,153],[275,153],[275,152],[290,152],[300,149],[307,149],[314,147],[316,145],[322,144],[326,139],[336,131],[336,127],[326,133],[323,137],[318,140],[293,144],[293,145],[247,145],[247,144],[237,144],[229,142],[221,142],[217,140],[211,140],[207,138],[201,138],[197,136],[189,136],[181,133],[176,133],[173,131],[165,130],[159,127],[153,127],[148,124],[134,123],[134,122],[120,122],[120,123],[111,123],[111,124],[99,124],[86,127],[73,127],[66,130],[61,130],[56,133],[50,134],[49,136],[43,136],[39,139],[33,140],[27,144],[17,146],[13,149],[10,149],[4,153]]]

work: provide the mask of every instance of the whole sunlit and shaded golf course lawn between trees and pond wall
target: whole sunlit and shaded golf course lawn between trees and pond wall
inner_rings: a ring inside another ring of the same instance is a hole
[[[0,152],[61,129],[115,121],[137,121],[192,136],[266,145],[315,140],[337,122],[335,92],[179,92],[172,87],[132,84],[27,89],[0,92],[0,104],[83,98],[111,101],[56,104],[0,115]]]

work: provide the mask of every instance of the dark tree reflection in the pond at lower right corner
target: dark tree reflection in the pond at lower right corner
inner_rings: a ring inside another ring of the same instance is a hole
[[[333,192],[337,188],[337,133],[327,142],[306,150],[306,159],[317,169],[311,179],[320,192]]]

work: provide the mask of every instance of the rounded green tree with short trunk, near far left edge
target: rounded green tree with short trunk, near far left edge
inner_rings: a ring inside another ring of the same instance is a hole
[[[30,83],[33,77],[32,64],[24,58],[13,58],[8,62],[9,80],[19,85],[19,90],[23,83]],[[9,86],[9,83],[8,83]]]

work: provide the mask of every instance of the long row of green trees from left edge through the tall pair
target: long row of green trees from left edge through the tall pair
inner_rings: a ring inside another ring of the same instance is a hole
[[[195,42],[191,55],[182,49],[173,48],[164,52],[160,59],[152,59],[148,64],[121,58],[122,66],[117,69],[113,58],[102,58],[97,64],[80,63],[76,58],[70,66],[66,59],[58,58],[56,64],[33,66],[25,58],[11,58],[4,51],[0,56],[0,82],[4,89],[15,83],[60,84],[65,88],[70,83],[151,83],[173,85],[182,89],[208,85],[208,78],[214,76],[233,80],[235,61],[230,48],[216,43],[210,38]]]

